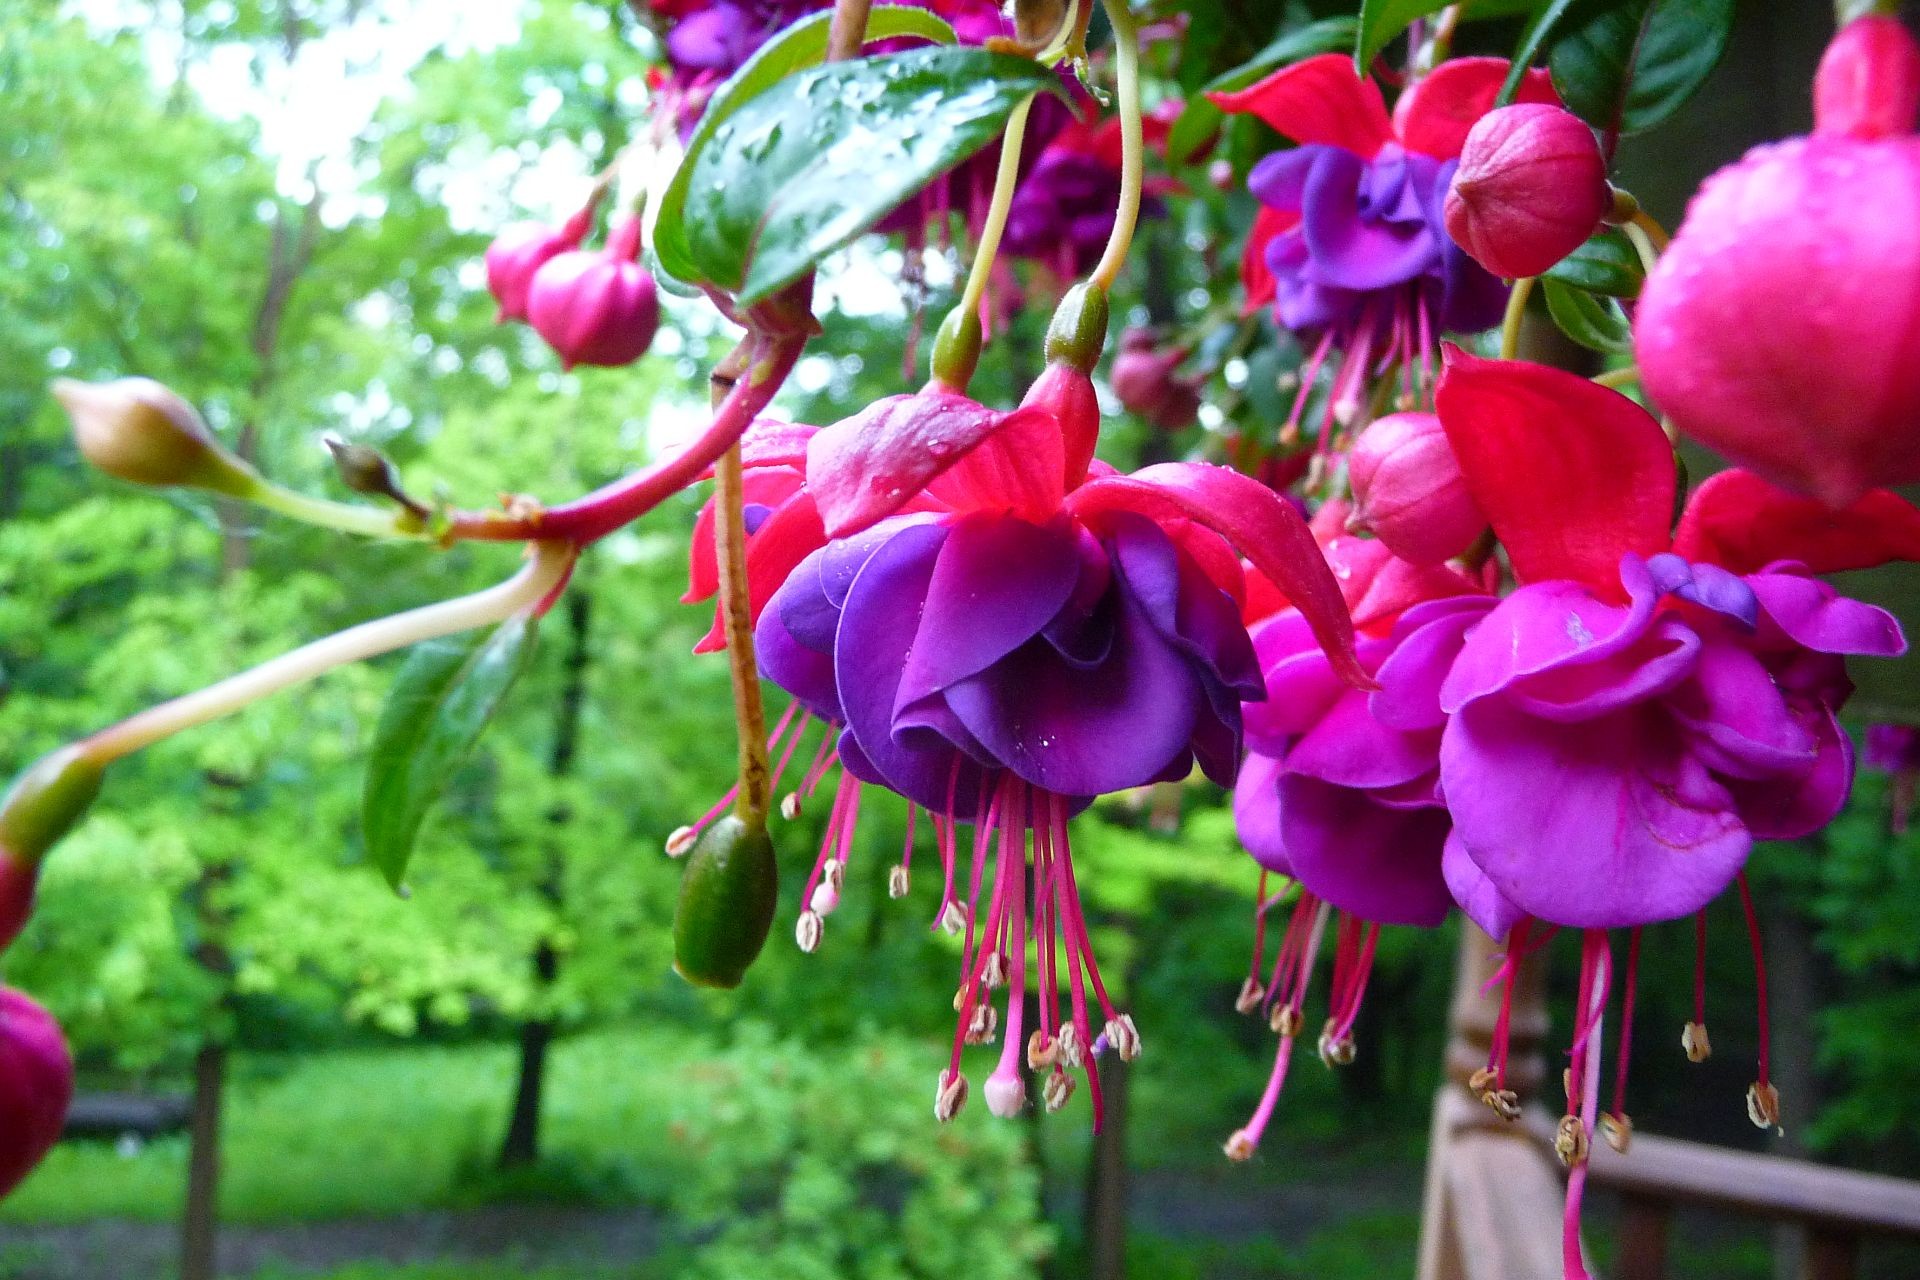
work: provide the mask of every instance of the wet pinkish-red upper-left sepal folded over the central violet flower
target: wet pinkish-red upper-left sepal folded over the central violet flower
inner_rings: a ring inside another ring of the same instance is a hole
[[[806,447],[806,487],[828,533],[847,537],[885,520],[927,484],[1002,426],[1023,424],[1039,409],[1000,413],[952,391],[920,391],[874,401],[822,428]],[[1054,507],[1060,468],[1054,466]]]

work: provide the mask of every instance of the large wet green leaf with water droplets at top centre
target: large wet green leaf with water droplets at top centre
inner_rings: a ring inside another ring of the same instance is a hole
[[[722,121],[680,217],[699,280],[741,305],[806,274],[987,146],[1023,98],[1062,92],[1029,58],[916,48],[801,71]]]

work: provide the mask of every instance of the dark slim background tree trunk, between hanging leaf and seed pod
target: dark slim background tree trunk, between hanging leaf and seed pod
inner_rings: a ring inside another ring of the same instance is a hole
[[[563,599],[566,618],[566,658],[561,683],[561,702],[553,714],[553,752],[547,756],[547,775],[555,781],[574,771],[574,754],[580,750],[580,706],[586,700],[588,679],[588,624],[593,616],[593,597],[586,587],[576,587]],[[559,912],[563,906],[563,833],[572,821],[572,810],[559,802],[547,814],[547,846],[538,885],[540,896]],[[534,948],[534,986],[543,998],[561,977],[561,956],[553,950],[551,938],[541,938]],[[538,1006],[536,1006],[538,1007]],[[507,1138],[499,1144],[499,1167],[518,1169],[540,1159],[540,1103],[547,1079],[547,1050],[559,1025],[545,1015],[536,1015],[520,1025],[520,1077],[513,1088],[513,1115],[507,1121]]]

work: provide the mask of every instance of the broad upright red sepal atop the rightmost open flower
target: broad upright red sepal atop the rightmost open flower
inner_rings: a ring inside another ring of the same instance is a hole
[[[1620,599],[1620,557],[1667,551],[1672,447],[1619,391],[1450,344],[1434,409],[1521,581],[1569,578]]]

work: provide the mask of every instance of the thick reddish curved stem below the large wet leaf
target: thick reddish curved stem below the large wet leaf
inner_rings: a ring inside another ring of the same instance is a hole
[[[445,537],[449,541],[553,539],[586,545],[647,514],[699,480],[741,438],[780,391],[806,347],[806,338],[801,334],[753,342],[755,359],[720,403],[712,424],[674,457],[549,510],[532,514],[461,512],[449,524]]]

